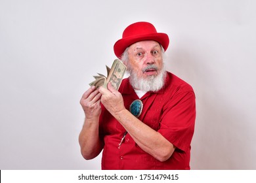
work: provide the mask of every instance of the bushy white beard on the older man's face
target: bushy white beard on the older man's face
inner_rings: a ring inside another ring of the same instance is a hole
[[[146,78],[139,78],[137,76],[137,73],[135,73],[133,69],[131,69],[130,65],[128,64],[127,66],[127,70],[130,74],[129,80],[131,86],[133,86],[133,88],[135,88],[136,90],[142,90],[144,92],[157,92],[158,90],[163,88],[166,77],[166,71],[164,68],[162,68],[160,73],[156,76],[152,75],[147,76]],[[153,65],[152,67],[155,66]]]

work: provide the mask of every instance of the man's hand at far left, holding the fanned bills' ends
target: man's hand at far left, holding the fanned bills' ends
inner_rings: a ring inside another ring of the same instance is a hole
[[[100,116],[100,97],[101,94],[95,86],[92,86],[89,90],[83,93],[80,104],[83,107],[87,119],[98,118],[98,116]]]

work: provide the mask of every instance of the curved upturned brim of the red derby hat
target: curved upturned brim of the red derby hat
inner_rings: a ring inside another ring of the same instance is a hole
[[[139,41],[147,41],[152,40],[159,42],[161,46],[163,46],[163,50],[167,50],[169,46],[169,37],[165,33],[151,33],[146,35],[137,35],[132,37],[126,37],[124,39],[119,39],[114,44],[114,53],[116,54],[117,58],[121,58],[121,55],[125,51],[125,49],[128,46],[131,46],[131,44],[134,44],[135,42]]]

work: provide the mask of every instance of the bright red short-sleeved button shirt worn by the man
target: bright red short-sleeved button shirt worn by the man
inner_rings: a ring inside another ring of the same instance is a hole
[[[123,95],[125,108],[139,99],[129,78],[121,83],[119,92]],[[125,129],[102,106],[100,115],[100,137],[104,141],[102,169],[190,169],[190,143],[194,133],[196,102],[192,87],[167,73],[165,85],[158,92],[147,92],[140,98],[143,103],[139,120],[158,131],[176,146],[171,158],[161,162],[144,152],[127,133],[118,144]]]

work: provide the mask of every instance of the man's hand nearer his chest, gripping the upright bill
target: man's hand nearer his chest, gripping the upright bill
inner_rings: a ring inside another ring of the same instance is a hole
[[[101,103],[113,116],[125,109],[121,93],[119,93],[111,83],[108,83],[108,90],[100,87],[99,92],[102,94]]]

